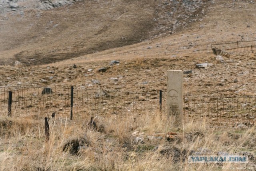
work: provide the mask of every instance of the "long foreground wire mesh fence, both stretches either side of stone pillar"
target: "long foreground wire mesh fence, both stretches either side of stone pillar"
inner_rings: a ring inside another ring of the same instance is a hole
[[[73,87],[50,89],[50,92],[42,93],[44,87],[0,87],[0,115],[42,119],[56,112],[57,118],[84,119],[88,115],[123,118],[136,115],[164,116],[167,113],[166,92],[160,90],[128,92]],[[183,98],[185,123],[204,120],[210,127],[254,125],[256,96],[183,95]]]

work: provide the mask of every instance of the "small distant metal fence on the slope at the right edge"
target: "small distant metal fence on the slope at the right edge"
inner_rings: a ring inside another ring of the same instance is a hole
[[[256,52],[256,40],[213,44],[212,51],[215,55],[220,55],[222,53],[235,55],[254,53]]]

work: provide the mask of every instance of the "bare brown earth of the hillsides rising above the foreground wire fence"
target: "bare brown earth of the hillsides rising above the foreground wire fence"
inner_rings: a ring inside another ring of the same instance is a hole
[[[157,4],[161,4],[157,9],[162,11],[156,12]],[[6,14],[9,19],[1,20],[4,23],[1,29],[5,32],[0,32],[0,37],[5,41],[0,46],[0,55],[2,64],[10,66],[1,66],[0,85],[87,87],[92,79],[97,79],[100,84],[94,85],[95,89],[165,90],[166,70],[175,69],[192,70],[192,74],[184,75],[186,94],[237,95],[236,91],[245,88],[240,93],[254,95],[254,54],[224,57],[226,62],[220,63],[215,60],[210,46],[217,42],[253,40],[255,4],[250,1],[206,1],[196,21],[188,22],[192,20],[188,18],[184,21],[185,26],[172,28],[171,35],[160,34],[163,30],[157,28],[161,22],[153,20],[159,17],[157,14],[168,10],[166,6],[172,8],[164,1],[124,1],[122,5],[120,1],[88,1],[54,10],[28,10],[24,15],[28,18],[22,20],[17,14]],[[87,8],[90,10],[86,11]],[[163,19],[162,23],[166,22],[164,25],[167,26],[167,21]],[[14,34],[15,29],[8,30],[10,24],[21,27],[22,32]],[[27,28],[29,24],[30,28]],[[158,38],[150,38],[159,34]],[[10,35],[12,37],[8,37]],[[127,44],[132,45],[124,46]],[[119,46],[123,47],[114,48]],[[90,54],[92,52],[95,53]],[[84,54],[89,55],[81,56]],[[65,60],[68,58],[72,59]],[[23,66],[12,67],[16,60]],[[120,60],[120,65],[112,66],[106,73],[96,72],[98,68],[108,66],[111,60]],[[195,67],[203,62],[214,65],[207,69]],[[48,65],[38,65],[42,63]],[[78,68],[70,68],[72,64]],[[88,74],[89,68],[94,69],[89,73],[94,75],[86,77],[84,74]],[[49,70],[54,70],[54,74]],[[50,76],[53,76],[52,80]],[[111,77],[120,79],[114,84],[109,80]],[[48,82],[42,83],[41,79]],[[235,79],[238,82],[234,83]],[[148,84],[142,85],[145,81]]]

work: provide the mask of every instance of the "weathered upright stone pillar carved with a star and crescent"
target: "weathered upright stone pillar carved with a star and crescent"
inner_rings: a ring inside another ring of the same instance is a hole
[[[175,119],[175,125],[182,124],[182,82],[181,70],[167,71],[167,119]]]

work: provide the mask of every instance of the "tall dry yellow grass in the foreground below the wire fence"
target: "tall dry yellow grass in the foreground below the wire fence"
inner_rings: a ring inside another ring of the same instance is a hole
[[[87,121],[89,118],[86,119]],[[104,132],[88,127],[86,121],[50,119],[50,139],[46,141],[43,120],[16,119],[1,121],[0,168],[5,170],[230,170],[230,167],[254,168],[256,131],[213,129],[204,123],[188,123],[184,127],[172,126],[157,115],[140,115],[136,119],[96,117],[104,123]],[[5,123],[13,123],[6,125]],[[132,136],[140,131],[143,142]],[[147,135],[176,131],[178,138],[147,139]],[[85,139],[82,141],[82,139]],[[74,142],[79,142],[74,143]],[[71,143],[70,143],[71,142]],[[69,143],[69,150],[64,147]],[[72,145],[74,145],[72,147]],[[79,145],[79,147],[78,147]],[[157,147],[157,148],[156,148]],[[71,150],[77,149],[78,153]],[[216,155],[219,151],[238,154],[250,152],[248,164],[188,164],[187,156],[194,151]],[[251,169],[252,170],[252,169]]]

